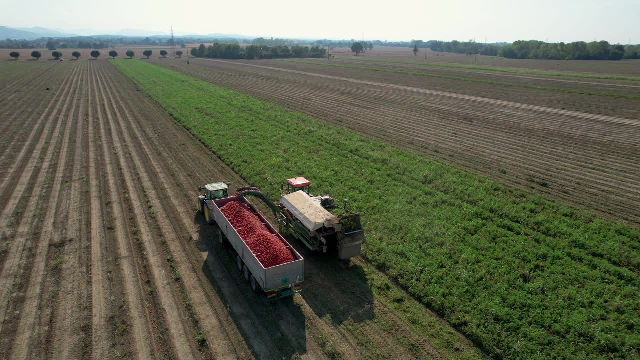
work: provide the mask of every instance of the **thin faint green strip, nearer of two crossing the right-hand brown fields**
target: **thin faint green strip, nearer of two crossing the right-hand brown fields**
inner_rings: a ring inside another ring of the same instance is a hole
[[[345,69],[369,70],[369,71],[378,71],[378,72],[393,72],[394,74],[424,76],[426,78],[439,78],[439,79],[448,79],[448,80],[470,81],[472,83],[484,83],[484,84],[491,84],[491,85],[513,86],[513,87],[518,87],[518,88],[531,88],[531,89],[536,89],[536,90],[545,90],[545,91],[553,91],[553,92],[568,92],[570,94],[583,94],[583,95],[606,96],[606,97],[620,97],[622,99],[640,100],[640,96],[638,96],[638,95],[611,94],[611,93],[608,93],[608,92],[595,92],[595,91],[577,90],[577,89],[568,89],[568,88],[551,88],[551,87],[548,87],[548,86],[529,85],[529,84],[522,84],[522,83],[508,83],[506,81],[493,81],[493,80],[484,80],[484,79],[463,78],[461,76],[429,74],[428,72],[415,72],[415,71],[405,71],[405,70],[380,69],[378,67],[356,66],[356,65],[339,65],[339,64],[334,64],[334,63],[327,63],[325,61],[303,61],[303,60],[282,60],[282,59],[278,59],[278,61],[286,61],[286,62],[289,62],[289,63],[305,63],[305,64],[310,64],[310,65],[321,65],[321,66],[330,66],[330,67],[342,67],[342,68],[345,68]]]

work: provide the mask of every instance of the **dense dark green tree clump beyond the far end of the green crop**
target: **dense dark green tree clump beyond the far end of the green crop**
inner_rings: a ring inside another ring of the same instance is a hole
[[[323,58],[326,56],[326,49],[317,46],[302,47],[294,45],[273,46],[249,45],[244,49],[238,44],[213,44],[191,49],[191,55],[198,58],[219,58],[219,59],[282,59],[282,58]]]

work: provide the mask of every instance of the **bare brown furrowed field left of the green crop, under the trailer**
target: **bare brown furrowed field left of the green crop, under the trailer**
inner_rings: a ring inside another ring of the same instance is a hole
[[[0,90],[0,357],[481,356],[299,244],[305,290],[264,303],[195,211],[198,185],[244,181],[108,61],[31,69]]]

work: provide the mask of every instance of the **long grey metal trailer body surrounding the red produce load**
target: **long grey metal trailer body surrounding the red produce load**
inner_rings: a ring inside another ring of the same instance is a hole
[[[220,208],[228,204],[228,202],[238,201],[247,204],[260,218],[271,234],[282,241],[286,247],[291,250],[295,260],[291,263],[285,263],[271,268],[264,268],[255,254],[244,243],[244,240],[237,233],[236,229],[231,225],[227,217],[223,215]],[[282,299],[298,293],[302,290],[304,282],[305,266],[304,259],[284,238],[269,224],[269,222],[257,211],[253,205],[245,197],[233,196],[224,199],[208,201],[204,204],[213,214],[215,222],[220,227],[220,231],[227,238],[231,246],[236,250],[236,264],[238,270],[243,272],[244,279],[249,281],[253,290],[257,293],[265,293],[267,301]]]

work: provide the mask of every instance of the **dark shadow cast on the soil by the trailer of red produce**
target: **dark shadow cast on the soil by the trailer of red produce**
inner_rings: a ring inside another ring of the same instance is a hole
[[[200,226],[196,247],[207,253],[202,272],[253,356],[291,359],[307,354],[307,319],[294,299],[300,295],[266,302],[237,270],[236,251],[218,241],[218,226],[205,224],[199,211],[193,220]]]

